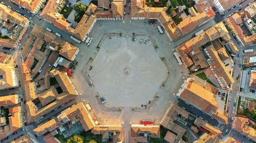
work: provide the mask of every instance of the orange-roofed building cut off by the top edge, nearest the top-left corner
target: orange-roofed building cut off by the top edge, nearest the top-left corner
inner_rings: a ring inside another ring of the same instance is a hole
[[[37,14],[38,11],[45,5],[46,0],[12,0],[16,4],[30,10],[34,14]]]

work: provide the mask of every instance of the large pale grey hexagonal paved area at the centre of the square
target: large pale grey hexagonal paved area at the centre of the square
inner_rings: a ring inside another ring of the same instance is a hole
[[[105,39],[92,62],[89,75],[109,107],[146,105],[167,76],[167,68],[153,45],[139,41],[114,36]]]

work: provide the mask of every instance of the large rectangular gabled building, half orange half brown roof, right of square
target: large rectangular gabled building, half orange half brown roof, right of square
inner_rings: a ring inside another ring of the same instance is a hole
[[[209,91],[202,83],[195,81],[195,79],[188,79],[178,96],[183,100],[190,102],[197,106],[204,112],[212,113],[219,107],[215,100],[216,95]]]

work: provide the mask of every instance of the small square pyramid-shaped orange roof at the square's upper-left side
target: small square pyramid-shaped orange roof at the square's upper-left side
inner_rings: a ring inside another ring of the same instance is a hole
[[[68,60],[73,61],[74,56],[78,53],[79,49],[68,42],[65,42],[61,49],[59,50],[59,54],[67,58]]]

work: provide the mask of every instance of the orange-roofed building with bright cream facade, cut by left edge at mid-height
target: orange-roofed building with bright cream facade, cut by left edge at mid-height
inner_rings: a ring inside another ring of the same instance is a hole
[[[18,87],[18,78],[15,68],[0,63],[0,89]]]

